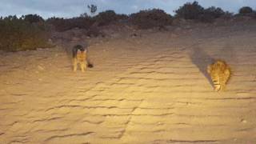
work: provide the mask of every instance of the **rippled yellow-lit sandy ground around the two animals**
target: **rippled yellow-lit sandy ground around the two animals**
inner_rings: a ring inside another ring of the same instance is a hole
[[[1,53],[0,143],[256,143],[256,26],[96,38],[86,73],[74,43]],[[206,74],[216,58],[225,92]]]

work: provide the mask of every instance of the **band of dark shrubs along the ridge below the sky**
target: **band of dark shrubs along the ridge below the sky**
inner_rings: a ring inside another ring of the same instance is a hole
[[[97,10],[96,6],[89,6]],[[109,26],[112,23],[125,22],[127,25],[132,24],[138,29],[151,29],[154,27],[170,26],[174,19],[192,20],[193,22],[212,23],[217,18],[229,19],[236,17],[249,16],[256,18],[255,11],[249,6],[244,6],[238,14],[225,12],[219,7],[211,6],[203,8],[198,2],[187,2],[175,11],[176,14],[171,16],[164,10],[140,10],[135,14],[116,14],[114,10],[106,10],[97,15],[90,16],[81,14],[75,18],[48,18],[44,20],[37,14],[28,14],[17,18],[9,16],[0,19],[0,50],[18,51],[18,50],[35,50],[40,47],[49,47],[50,33],[53,31],[66,31],[74,28],[87,30],[87,36],[98,37],[102,35],[101,26]]]

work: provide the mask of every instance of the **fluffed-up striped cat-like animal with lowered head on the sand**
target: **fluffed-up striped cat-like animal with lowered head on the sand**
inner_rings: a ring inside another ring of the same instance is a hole
[[[229,81],[231,76],[230,66],[222,60],[217,60],[213,64],[207,66],[207,73],[214,82],[214,90],[225,90],[226,82]]]

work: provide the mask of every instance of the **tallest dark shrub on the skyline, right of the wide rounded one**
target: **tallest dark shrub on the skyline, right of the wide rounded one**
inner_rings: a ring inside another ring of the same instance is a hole
[[[178,10],[175,10],[176,16],[185,19],[198,19],[203,13],[203,7],[198,2],[187,2],[183,6],[180,6]]]

